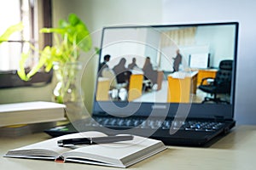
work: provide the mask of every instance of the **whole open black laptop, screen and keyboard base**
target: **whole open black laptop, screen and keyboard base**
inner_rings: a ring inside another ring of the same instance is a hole
[[[238,26],[220,22],[104,27],[98,63],[106,62],[106,55],[110,59],[98,69],[91,115],[45,133],[56,137],[96,130],[142,135],[168,145],[214,143],[236,125]],[[229,77],[224,80],[229,82],[216,88],[225,61],[229,71],[224,77]],[[202,89],[207,85],[212,89]]]

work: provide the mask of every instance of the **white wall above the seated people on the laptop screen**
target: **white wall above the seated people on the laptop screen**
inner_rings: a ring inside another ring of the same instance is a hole
[[[140,68],[143,68],[146,57],[150,57],[152,65],[158,65],[159,31],[146,27],[143,29],[110,28],[105,29],[102,42],[102,56],[111,55],[109,68],[117,65],[121,58],[126,59],[125,65],[128,66],[133,57],[136,57],[136,63]]]

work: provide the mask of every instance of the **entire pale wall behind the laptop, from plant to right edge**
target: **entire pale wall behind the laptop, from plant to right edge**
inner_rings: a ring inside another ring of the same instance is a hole
[[[256,79],[254,0],[53,0],[55,22],[74,12],[90,31],[100,37],[102,26],[120,24],[173,24],[239,21],[239,48],[236,83],[236,121],[256,124],[254,94]],[[99,42],[96,42],[99,44]],[[91,63],[93,69],[96,63]],[[248,75],[248,76],[247,76]],[[92,81],[93,82],[93,81]],[[88,82],[88,88],[93,87]],[[89,95],[90,98],[90,95]]]

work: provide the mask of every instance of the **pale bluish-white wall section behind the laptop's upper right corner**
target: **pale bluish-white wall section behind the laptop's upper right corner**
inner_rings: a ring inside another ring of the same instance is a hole
[[[240,23],[237,77],[236,110],[238,124],[256,124],[256,1],[254,0],[164,0],[163,22],[218,22]]]

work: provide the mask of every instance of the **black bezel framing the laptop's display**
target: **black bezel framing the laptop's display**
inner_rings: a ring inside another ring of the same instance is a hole
[[[124,27],[152,27],[152,28],[159,28],[159,27],[168,27],[168,26],[221,26],[221,25],[233,25],[236,28],[236,35],[235,35],[235,47],[234,47],[234,59],[233,59],[233,69],[232,69],[232,86],[231,86],[231,93],[230,93],[230,104],[200,104],[200,103],[192,103],[192,104],[178,104],[178,103],[150,103],[150,102],[144,102],[144,103],[129,103],[129,102],[123,102],[123,101],[97,101],[96,95],[94,95],[94,105],[93,105],[93,111],[92,115],[94,116],[108,116],[108,113],[106,111],[102,110],[103,108],[108,108],[108,111],[110,111],[111,115],[119,115],[119,116],[125,116],[129,115],[129,111],[123,111],[123,112],[117,112],[115,108],[109,107],[110,105],[116,105],[120,108],[125,107],[126,105],[134,105],[134,107],[138,107],[137,111],[132,114],[132,116],[148,116],[148,113],[151,113],[153,110],[156,112],[156,115],[158,116],[166,116],[167,117],[174,117],[177,116],[177,110],[179,106],[183,105],[184,107],[189,107],[189,114],[187,118],[206,118],[206,119],[215,119],[216,117],[223,117],[224,119],[233,119],[234,117],[234,108],[235,108],[235,92],[236,92],[236,59],[237,59],[237,46],[238,46],[238,27],[239,23],[236,21],[232,22],[216,22],[216,23],[193,23],[193,24],[175,24],[175,25],[159,25],[159,26],[110,26],[110,27],[104,27],[102,29],[102,43],[103,43],[103,37],[104,37],[104,31],[106,29],[118,29],[118,28],[124,28]],[[101,43],[101,49],[102,44]],[[102,58],[102,51],[100,50],[99,54],[99,61]],[[100,62],[99,62],[100,63]],[[97,82],[96,82],[97,83]],[[97,84],[96,84],[97,86]],[[96,92],[96,91],[95,91]],[[96,94],[96,93],[95,93]]]

